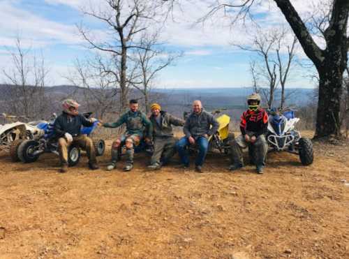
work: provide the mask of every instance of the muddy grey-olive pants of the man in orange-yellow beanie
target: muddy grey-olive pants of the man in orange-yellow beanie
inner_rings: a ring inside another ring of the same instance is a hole
[[[167,163],[174,154],[176,154],[176,142],[174,137],[155,138],[154,153],[151,156],[151,165],[155,163]]]

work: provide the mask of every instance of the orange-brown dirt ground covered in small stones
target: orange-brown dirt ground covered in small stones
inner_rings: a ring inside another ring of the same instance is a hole
[[[264,175],[219,154],[202,174],[109,158],[59,174],[53,154],[0,154],[0,258],[349,258],[349,145],[315,144],[309,167],[269,154]]]

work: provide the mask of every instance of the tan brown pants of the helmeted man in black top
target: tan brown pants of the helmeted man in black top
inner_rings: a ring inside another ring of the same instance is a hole
[[[68,165],[68,147],[71,144],[77,144],[84,149],[89,157],[89,163],[96,163],[96,152],[94,150],[94,142],[87,135],[73,137],[73,142],[68,144],[65,138],[58,139],[58,151],[61,165]]]

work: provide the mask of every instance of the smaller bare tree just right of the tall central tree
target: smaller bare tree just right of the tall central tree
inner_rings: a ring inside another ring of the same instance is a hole
[[[147,35],[144,34],[140,40],[142,47],[136,50],[135,62],[138,63],[138,82],[133,86],[138,89],[144,97],[145,110],[149,112],[149,94],[154,87],[156,75],[167,66],[173,64],[181,54],[166,52],[159,41],[160,31]]]

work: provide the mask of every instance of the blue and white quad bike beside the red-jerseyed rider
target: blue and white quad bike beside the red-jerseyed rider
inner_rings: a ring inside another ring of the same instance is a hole
[[[302,138],[296,130],[298,121],[295,110],[270,110],[267,142],[273,151],[298,154],[303,165],[310,165],[313,163],[313,144],[309,138]]]

